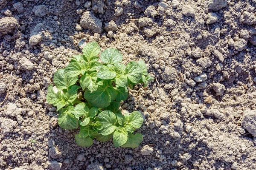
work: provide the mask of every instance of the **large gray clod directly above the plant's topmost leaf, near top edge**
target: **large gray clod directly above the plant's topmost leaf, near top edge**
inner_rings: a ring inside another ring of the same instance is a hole
[[[81,17],[80,25],[84,29],[90,29],[93,32],[101,33],[102,21],[95,17],[91,11],[86,11]]]

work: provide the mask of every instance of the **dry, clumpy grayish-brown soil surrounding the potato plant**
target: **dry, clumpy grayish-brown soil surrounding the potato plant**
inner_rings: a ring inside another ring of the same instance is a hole
[[[256,170],[255,0],[0,0],[1,170]],[[88,42],[143,59],[137,148],[79,147],[47,86]]]

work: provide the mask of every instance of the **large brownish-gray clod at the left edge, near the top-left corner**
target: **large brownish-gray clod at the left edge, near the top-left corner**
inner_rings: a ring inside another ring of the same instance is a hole
[[[15,31],[18,21],[14,17],[3,17],[0,20],[0,34],[8,34]]]

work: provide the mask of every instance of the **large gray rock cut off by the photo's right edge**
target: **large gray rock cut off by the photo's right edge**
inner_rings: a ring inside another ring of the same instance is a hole
[[[244,129],[256,137],[256,110],[247,109],[241,122]]]

